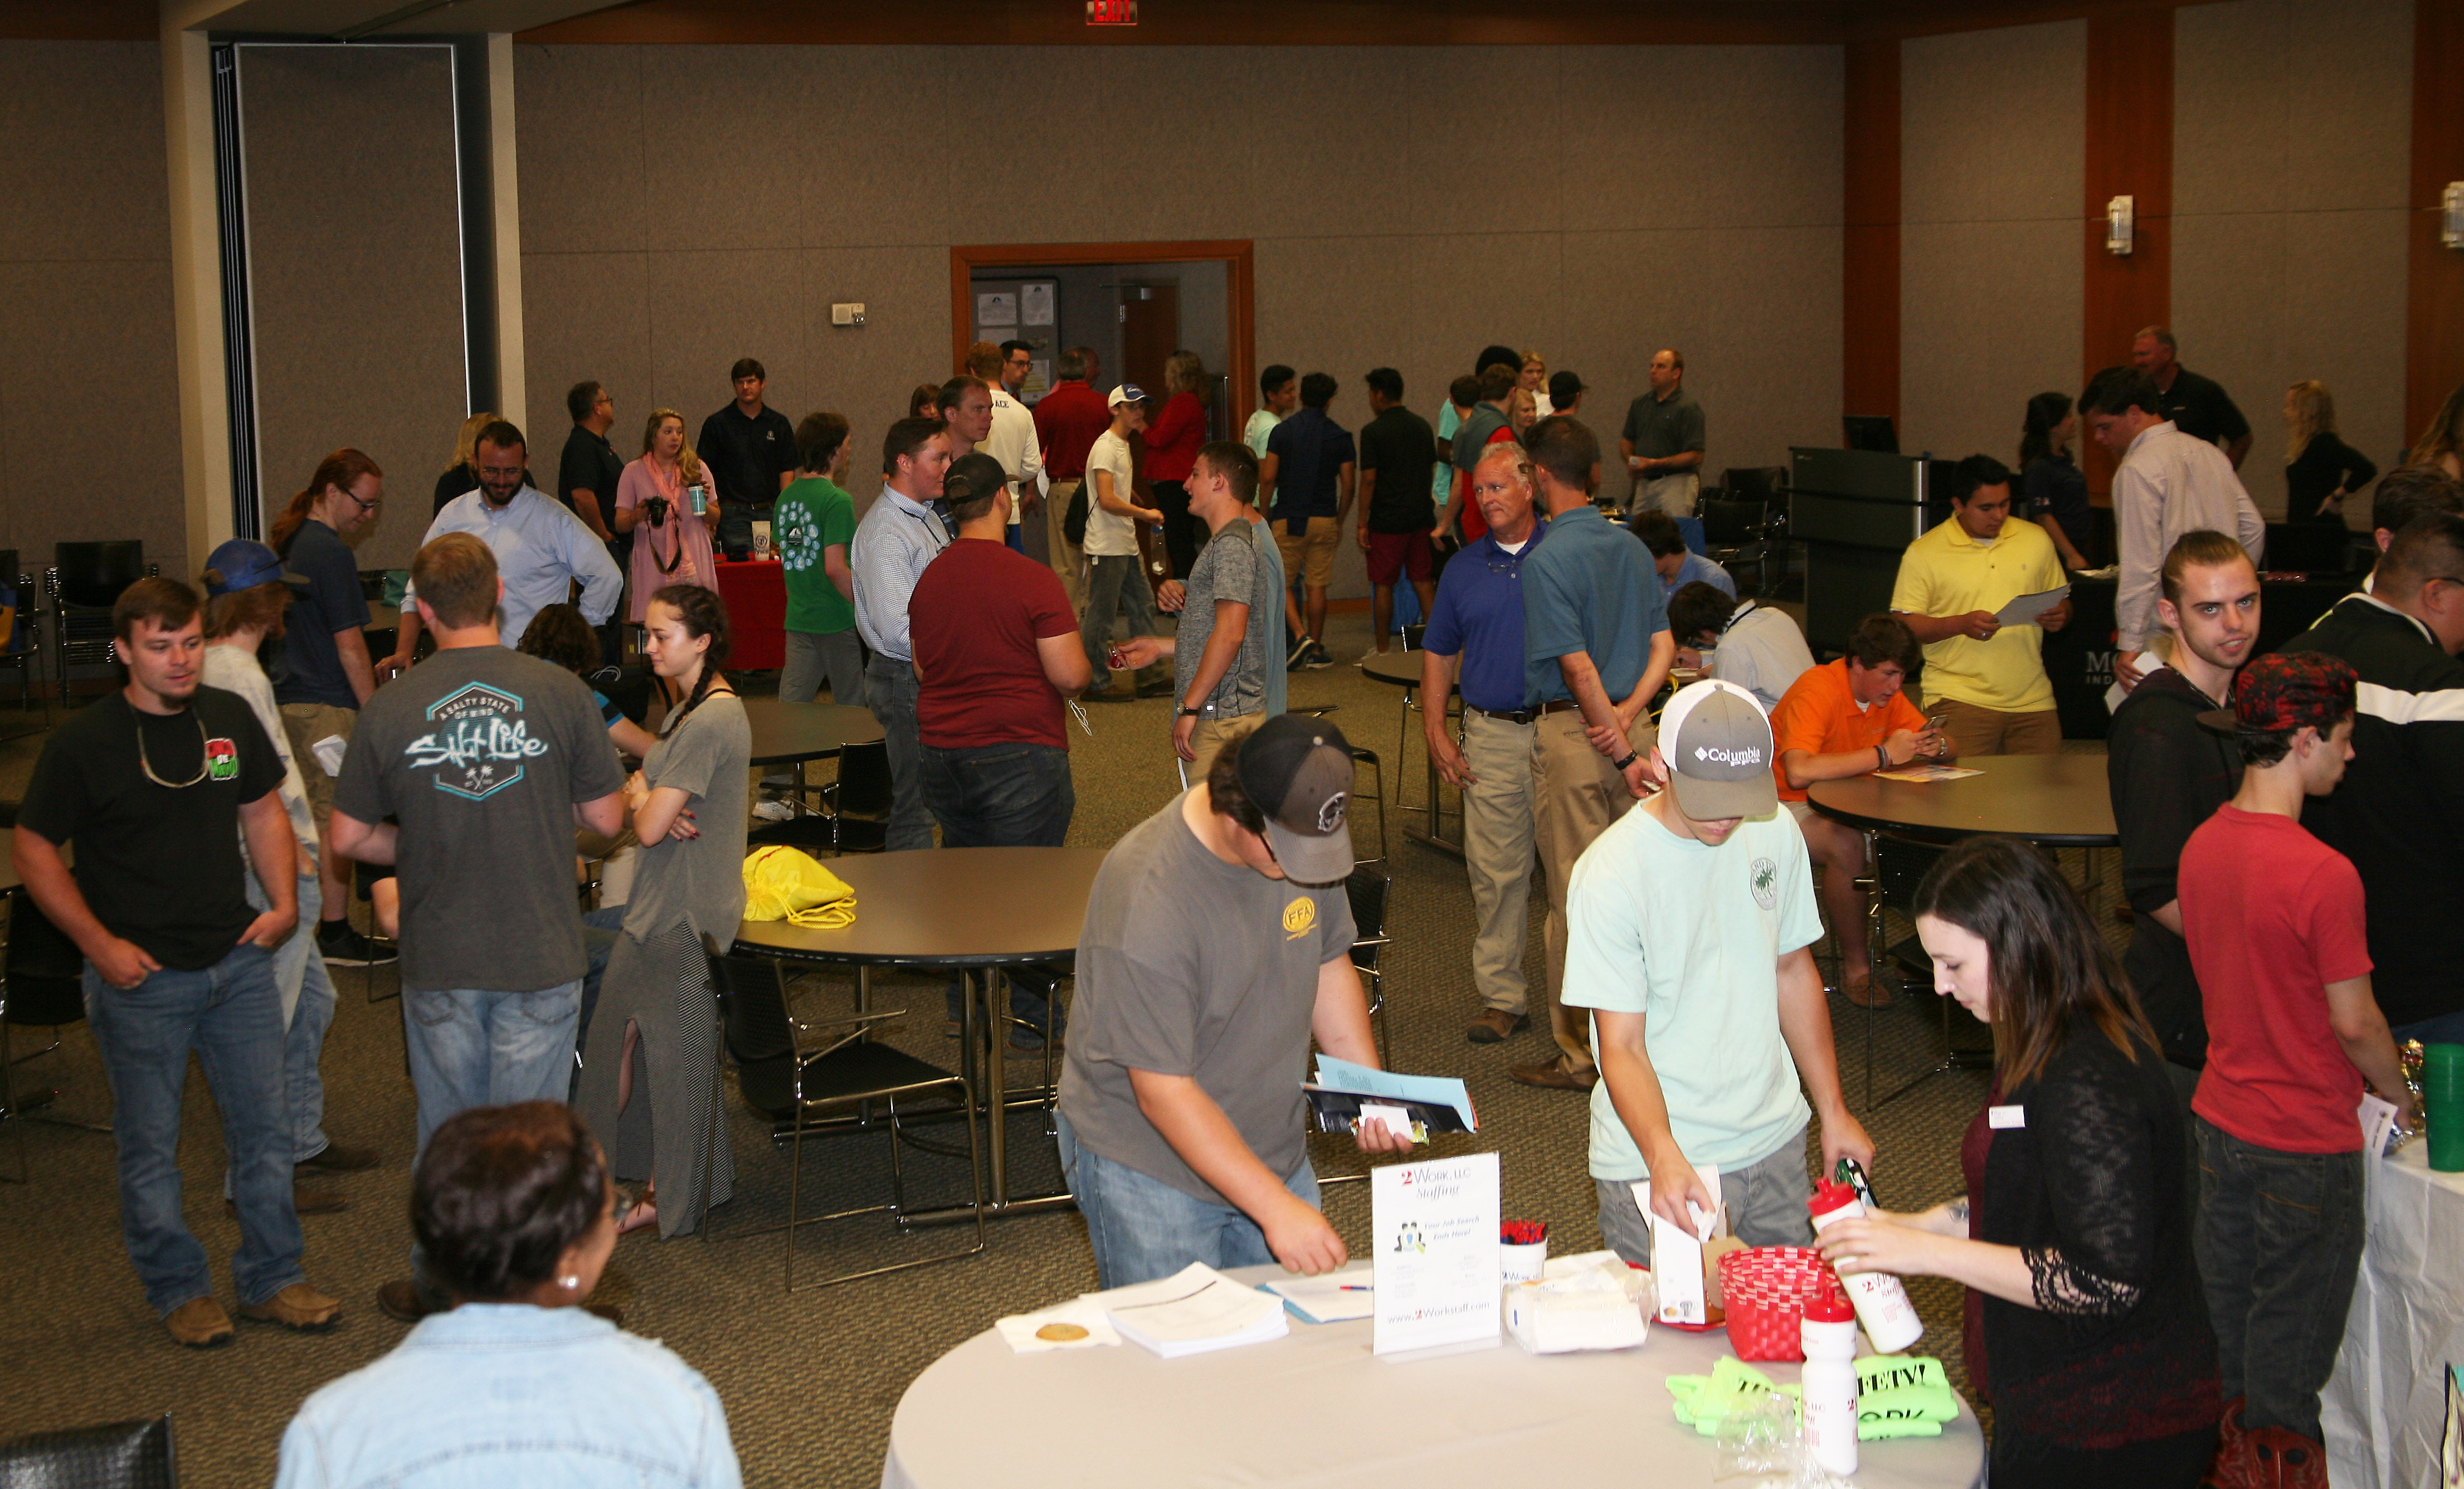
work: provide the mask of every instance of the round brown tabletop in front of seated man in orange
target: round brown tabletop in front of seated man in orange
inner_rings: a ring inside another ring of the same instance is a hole
[[[1976,756],[1951,760],[1981,775],[1959,780],[1816,780],[1814,810],[1865,832],[1959,842],[1979,832],[2045,847],[2114,847],[2114,797],[2104,756]]]

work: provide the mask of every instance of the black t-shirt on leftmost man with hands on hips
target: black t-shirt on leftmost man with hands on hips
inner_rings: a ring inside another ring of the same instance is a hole
[[[205,778],[148,780],[140,729],[155,775]],[[140,714],[116,692],[52,731],[17,822],[76,849],[76,888],[103,928],[175,972],[197,972],[232,955],[256,918],[239,807],[281,783],[283,758],[239,694],[197,687],[177,714]]]

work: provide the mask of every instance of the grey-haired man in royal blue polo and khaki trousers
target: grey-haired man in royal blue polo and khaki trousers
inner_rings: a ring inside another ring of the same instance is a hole
[[[1523,561],[1547,534],[1533,509],[1533,463],[1523,445],[1488,445],[1471,470],[1471,500],[1488,522],[1437,583],[1422,637],[1419,697],[1464,689],[1464,746],[1446,709],[1422,709],[1429,758],[1464,792],[1464,869],[1471,871],[1471,982],[1481,1016],[1471,1044],[1530,1029],[1523,938],[1533,891],[1533,711],[1523,706]],[[1555,962],[1550,965],[1555,972]],[[1555,1007],[1555,982],[1550,1007]]]

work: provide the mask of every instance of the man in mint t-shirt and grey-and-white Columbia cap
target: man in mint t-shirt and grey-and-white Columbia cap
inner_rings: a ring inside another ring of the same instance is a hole
[[[1599,1048],[1599,1236],[1648,1263],[1634,1181],[1690,1231],[1685,1206],[1710,1213],[1700,1169],[1715,1167],[1747,1245],[1806,1245],[1806,1117],[1823,1120],[1826,1174],[1841,1157],[1873,1164],[1873,1140],[1841,1098],[1814,869],[1779,810],[1772,724],[1742,687],[1698,682],[1668,701],[1651,753],[1668,790],[1611,822],[1567,888],[1562,997],[1592,1009]]]

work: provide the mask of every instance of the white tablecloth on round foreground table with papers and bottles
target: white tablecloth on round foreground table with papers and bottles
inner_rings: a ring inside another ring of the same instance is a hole
[[[986,1329],[907,1388],[882,1489],[1710,1489],[1712,1442],[1676,1420],[1661,1381],[1708,1373],[1722,1354],[1727,1334],[1661,1324],[1626,1351],[1533,1356],[1508,1339],[1412,1363],[1372,1356],[1365,1319],[1294,1319],[1286,1339],[1178,1361],[1136,1344],[1010,1354]],[[1799,1371],[1762,1368],[1781,1383]],[[1942,1437],[1865,1442],[1855,1482],[1981,1487],[1976,1415],[1961,1405]]]

